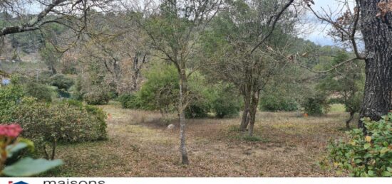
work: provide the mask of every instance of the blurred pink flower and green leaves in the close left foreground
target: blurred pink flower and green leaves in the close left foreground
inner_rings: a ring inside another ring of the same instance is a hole
[[[63,161],[58,159],[47,161],[42,158],[19,158],[17,155],[21,151],[25,149],[33,151],[34,149],[33,142],[18,137],[21,131],[19,124],[0,125],[1,175],[19,177],[37,175],[63,164]],[[9,160],[13,161],[14,158],[16,158],[16,161],[9,163]]]

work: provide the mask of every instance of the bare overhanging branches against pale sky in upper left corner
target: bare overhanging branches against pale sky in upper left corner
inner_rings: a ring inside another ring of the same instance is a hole
[[[0,12],[11,15],[9,26],[0,28],[0,36],[34,31],[49,23],[60,23],[75,31],[86,29],[87,14],[91,10],[106,11],[113,0],[4,0]],[[31,7],[40,7],[29,12]]]

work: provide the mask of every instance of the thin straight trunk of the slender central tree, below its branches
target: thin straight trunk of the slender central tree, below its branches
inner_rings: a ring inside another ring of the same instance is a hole
[[[180,101],[179,101],[179,114],[180,114],[180,152],[182,156],[182,164],[189,164],[187,148],[185,144],[185,108],[186,108],[186,99],[185,95],[187,94],[187,78],[185,75],[185,71],[181,72],[180,75]]]

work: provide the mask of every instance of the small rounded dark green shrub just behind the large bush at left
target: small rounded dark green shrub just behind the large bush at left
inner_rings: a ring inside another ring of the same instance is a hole
[[[35,97],[42,102],[52,102],[53,90],[46,86],[36,82],[29,82],[24,87],[27,96]]]

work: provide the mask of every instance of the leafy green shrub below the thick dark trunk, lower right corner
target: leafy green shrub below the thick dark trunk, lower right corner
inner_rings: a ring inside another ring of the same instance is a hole
[[[332,165],[351,176],[392,176],[392,114],[380,121],[363,121],[369,135],[362,129],[347,131],[347,140],[331,142],[321,166]]]

